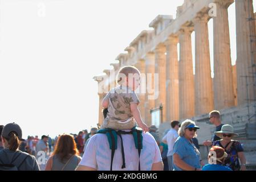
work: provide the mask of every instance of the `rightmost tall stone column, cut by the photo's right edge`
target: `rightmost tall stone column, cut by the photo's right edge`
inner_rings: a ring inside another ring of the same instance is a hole
[[[255,40],[255,20],[248,20],[249,16],[254,18],[253,1],[252,0],[236,0],[235,1],[235,14],[236,14],[236,30],[237,30],[237,102],[238,105],[244,104],[247,101],[248,89],[249,100],[254,99],[255,87],[250,84],[246,86],[246,77],[249,83],[254,82],[251,77],[253,69],[250,68],[255,62],[255,41],[250,43],[250,35]],[[254,51],[251,53],[251,51]]]

